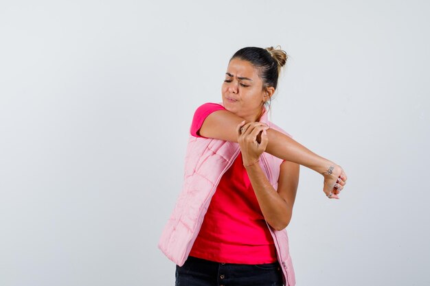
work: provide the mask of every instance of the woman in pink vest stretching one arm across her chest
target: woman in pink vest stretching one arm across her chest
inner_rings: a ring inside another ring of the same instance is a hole
[[[299,165],[339,198],[346,174],[267,120],[286,53],[246,47],[231,57],[223,104],[195,114],[183,191],[159,242],[176,285],[295,285],[288,226]]]

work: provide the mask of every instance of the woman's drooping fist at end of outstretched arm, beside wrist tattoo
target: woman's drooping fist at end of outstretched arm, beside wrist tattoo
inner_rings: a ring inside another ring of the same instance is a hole
[[[341,166],[336,164],[330,164],[326,171],[322,173],[324,176],[324,193],[326,193],[327,198],[339,199],[339,193],[346,184],[348,177]]]

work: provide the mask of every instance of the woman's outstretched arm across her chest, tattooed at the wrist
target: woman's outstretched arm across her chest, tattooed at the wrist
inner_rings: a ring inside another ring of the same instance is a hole
[[[199,134],[207,138],[237,142],[237,126],[243,120],[242,117],[238,117],[228,110],[217,110],[206,117]],[[324,193],[333,192],[334,195],[331,198],[338,198],[339,189],[343,188],[347,179],[339,165],[308,150],[304,145],[282,132],[269,129],[267,137],[269,143],[265,152],[317,171],[324,176]]]

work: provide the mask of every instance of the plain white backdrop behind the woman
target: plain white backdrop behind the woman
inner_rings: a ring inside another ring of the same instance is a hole
[[[290,58],[297,286],[429,285],[428,1],[1,1],[0,285],[173,285],[157,249],[195,108],[247,46]]]

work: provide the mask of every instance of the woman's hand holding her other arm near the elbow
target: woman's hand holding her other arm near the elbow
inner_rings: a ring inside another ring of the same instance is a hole
[[[258,161],[260,155],[266,150],[269,139],[266,130],[269,129],[264,123],[245,121],[237,127],[238,143],[242,151],[243,165],[253,165]]]

